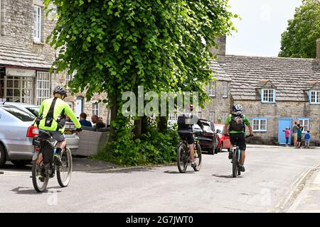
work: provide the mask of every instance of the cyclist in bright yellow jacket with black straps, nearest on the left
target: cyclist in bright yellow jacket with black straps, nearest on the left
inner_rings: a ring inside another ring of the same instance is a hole
[[[41,131],[49,132],[58,141],[54,154],[55,165],[61,165],[60,153],[67,143],[63,134],[65,131],[65,117],[69,116],[73,123],[75,123],[76,131],[82,131],[80,122],[73,113],[73,110],[63,101],[66,96],[67,92],[65,92],[63,87],[55,87],[53,98],[42,101],[38,114],[39,117],[35,122],[35,126],[38,126]]]

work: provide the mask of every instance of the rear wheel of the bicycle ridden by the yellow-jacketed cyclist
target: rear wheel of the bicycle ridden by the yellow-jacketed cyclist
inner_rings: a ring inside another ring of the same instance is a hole
[[[41,155],[38,155],[38,158],[41,158]],[[48,182],[49,182],[49,176],[42,176],[41,175],[41,163],[42,160],[39,161],[34,160],[32,163],[32,183],[34,189],[36,189],[37,192],[44,192],[47,188]]]

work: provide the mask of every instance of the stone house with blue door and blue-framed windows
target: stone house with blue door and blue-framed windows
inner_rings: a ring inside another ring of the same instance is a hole
[[[230,106],[217,97],[206,112],[230,112],[233,104],[241,104],[255,132],[252,143],[284,144],[284,129],[292,128],[294,121],[304,132],[311,131],[311,143],[319,143],[320,39],[317,53],[316,59],[225,55],[219,63],[225,78],[231,79]]]

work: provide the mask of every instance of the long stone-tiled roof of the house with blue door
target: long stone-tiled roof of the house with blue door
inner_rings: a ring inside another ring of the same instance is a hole
[[[270,81],[277,101],[309,101],[306,91],[320,82],[319,59],[226,55],[221,66],[235,100],[261,100],[260,89]]]

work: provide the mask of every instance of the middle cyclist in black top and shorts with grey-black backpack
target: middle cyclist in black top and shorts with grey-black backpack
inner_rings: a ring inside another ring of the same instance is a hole
[[[197,123],[203,131],[203,124],[199,120],[198,116],[192,114],[193,105],[189,106],[189,112],[178,115],[178,134],[180,138],[186,138],[188,147],[190,150],[191,157],[191,167],[196,167],[196,162],[194,162],[194,150],[193,150],[193,124]]]

